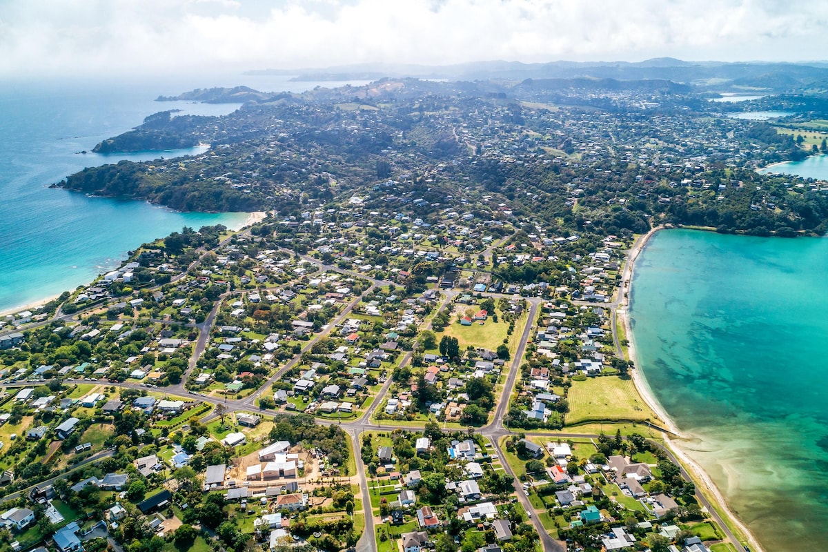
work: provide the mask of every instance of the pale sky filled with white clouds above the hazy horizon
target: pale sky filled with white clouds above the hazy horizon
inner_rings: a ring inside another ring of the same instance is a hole
[[[0,78],[444,65],[824,60],[828,2],[0,0]]]

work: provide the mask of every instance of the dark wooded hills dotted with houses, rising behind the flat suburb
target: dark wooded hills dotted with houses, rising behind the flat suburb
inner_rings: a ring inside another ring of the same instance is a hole
[[[791,134],[727,118],[681,86],[579,82],[383,79],[251,102],[220,118],[164,112],[101,148],[206,142],[209,151],[86,169],[60,185],[181,210],[286,217],[342,209],[356,196],[360,206],[426,222],[455,209],[573,233],[638,233],[656,223],[824,233],[821,184],[754,170],[806,156]]]

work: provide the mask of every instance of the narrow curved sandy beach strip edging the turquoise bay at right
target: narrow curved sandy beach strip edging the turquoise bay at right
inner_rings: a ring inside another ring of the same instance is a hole
[[[704,485],[705,490],[712,495],[713,500],[715,501],[715,506],[718,506],[721,511],[724,512],[724,516],[729,518],[730,523],[732,523],[741,533],[745,540],[747,540],[750,544],[751,550],[756,552],[763,552],[763,547],[759,544],[756,536],[753,535],[753,532],[749,530],[748,526],[744,524],[744,522],[739,519],[739,516],[731,509],[730,505],[728,504],[727,500],[724,498],[724,495],[720,491],[719,487],[716,487],[715,482],[713,482],[710,475],[705,472],[705,469],[700,465],[700,463],[696,462],[695,459],[691,458],[690,454],[687,453],[685,449],[681,448],[680,441],[689,439],[689,436],[686,432],[682,432],[679,430],[678,426],[670,415],[667,413],[667,410],[664,410],[664,407],[658,402],[657,398],[652,394],[652,389],[650,389],[649,384],[647,383],[647,378],[644,376],[643,372],[641,372],[641,368],[638,364],[638,358],[635,355],[635,337],[632,331],[632,327],[629,323],[629,292],[631,290],[631,284],[633,281],[633,271],[635,262],[638,260],[638,256],[643,252],[644,247],[649,242],[650,238],[654,236],[657,232],[665,229],[667,227],[664,226],[657,226],[656,228],[652,228],[649,232],[644,234],[641,238],[633,243],[633,247],[629,250],[627,254],[627,262],[623,269],[623,274],[621,277],[621,285],[619,287],[619,305],[616,309],[616,317],[620,318],[616,324],[623,324],[624,331],[627,335],[628,340],[628,357],[629,360],[633,361],[633,369],[630,370],[631,377],[633,379],[633,385],[635,386],[636,391],[638,391],[638,395],[641,396],[644,403],[658,415],[665,425],[667,425],[667,429],[672,431],[675,434],[672,438],[670,435],[662,432],[662,437],[664,442],[667,446],[667,449],[671,450],[673,454],[676,455],[676,458],[681,460],[681,465],[687,469],[687,472],[691,474],[692,479],[694,482],[700,482]],[[737,542],[734,545],[741,545],[741,543]]]

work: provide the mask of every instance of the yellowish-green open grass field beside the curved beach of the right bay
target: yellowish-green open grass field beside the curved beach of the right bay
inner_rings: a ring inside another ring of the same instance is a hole
[[[590,377],[585,382],[572,382],[567,400],[567,425],[596,420],[657,421],[629,379]]]

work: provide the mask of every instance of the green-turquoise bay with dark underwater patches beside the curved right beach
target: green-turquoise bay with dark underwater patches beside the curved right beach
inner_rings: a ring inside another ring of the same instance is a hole
[[[636,262],[638,365],[765,550],[828,542],[828,239],[666,230]]]

